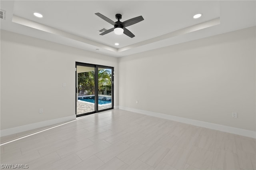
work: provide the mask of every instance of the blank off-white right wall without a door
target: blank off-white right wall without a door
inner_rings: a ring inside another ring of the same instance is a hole
[[[252,27],[122,57],[119,106],[256,131],[255,38]]]

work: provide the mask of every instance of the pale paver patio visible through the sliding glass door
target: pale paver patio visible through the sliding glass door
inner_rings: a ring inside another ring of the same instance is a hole
[[[103,109],[108,109],[111,108],[112,105],[110,104],[106,104],[106,105],[99,105],[98,106],[98,110],[103,110]],[[83,113],[89,113],[89,112],[93,112],[94,111],[94,103],[90,103],[90,102],[84,102],[84,101],[80,101],[78,100],[76,102],[76,114],[80,115]]]

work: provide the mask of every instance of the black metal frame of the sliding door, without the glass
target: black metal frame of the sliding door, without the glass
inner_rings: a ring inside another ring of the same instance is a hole
[[[80,65],[80,66],[84,66],[84,67],[94,67],[94,71],[95,71],[95,74],[94,74],[94,81],[95,81],[95,91],[94,91],[94,94],[95,94],[95,105],[94,105],[94,111],[93,112],[89,112],[89,113],[83,113],[83,114],[80,114],[80,115],[76,115],[76,117],[81,117],[81,116],[84,116],[84,115],[90,115],[90,114],[93,114],[93,113],[98,113],[98,112],[102,112],[102,111],[107,111],[107,110],[110,110],[110,109],[114,109],[114,67],[110,67],[110,66],[105,66],[105,65],[97,65],[97,64],[90,64],[90,63],[82,63],[82,62],[77,62],[76,61],[76,68],[77,68],[77,65]],[[98,68],[105,68],[105,69],[111,69],[111,107],[108,108],[108,109],[102,109],[102,110],[98,110]],[[77,87],[77,69],[75,71],[75,74],[76,74],[76,86],[75,86],[75,99],[77,101],[77,93],[78,93],[78,87]],[[76,103],[76,102],[75,102]],[[76,105],[77,107],[77,105]]]

